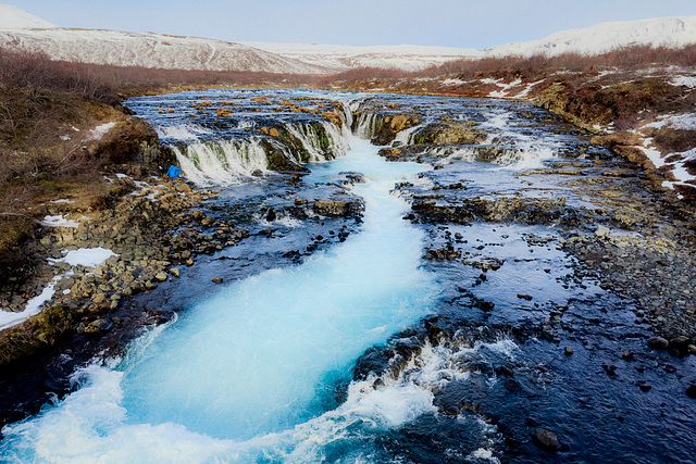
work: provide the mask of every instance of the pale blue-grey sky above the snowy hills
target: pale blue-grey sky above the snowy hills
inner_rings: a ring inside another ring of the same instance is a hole
[[[5,0],[8,1],[8,0]],[[696,15],[696,0],[23,0],[62,27],[229,41],[485,48],[599,22]]]

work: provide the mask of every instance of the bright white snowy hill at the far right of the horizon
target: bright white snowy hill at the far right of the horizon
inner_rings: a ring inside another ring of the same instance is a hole
[[[592,27],[561,30],[539,40],[490,47],[484,52],[494,57],[564,52],[597,54],[633,45],[682,47],[689,43],[696,43],[696,16],[670,16],[599,23]]]

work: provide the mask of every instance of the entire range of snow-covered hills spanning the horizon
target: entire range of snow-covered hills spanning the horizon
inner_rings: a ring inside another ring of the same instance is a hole
[[[346,47],[226,42],[153,33],[59,28],[18,8],[0,5],[0,47],[42,51],[54,60],[202,71],[333,74],[358,67],[421,71],[449,61],[506,54],[601,53],[631,45],[696,43],[696,16],[599,23],[485,50],[447,47]]]

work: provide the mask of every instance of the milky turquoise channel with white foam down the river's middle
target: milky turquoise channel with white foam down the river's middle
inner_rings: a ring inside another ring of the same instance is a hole
[[[391,196],[418,164],[386,163],[368,141],[310,179],[362,173],[362,230],[299,266],[233,283],[150,334],[114,368],[80,372],[82,388],[3,429],[2,455],[32,462],[308,462],[432,412],[412,384],[349,387],[355,360],[432,311],[437,285],[419,268],[422,233]],[[307,179],[307,181],[310,181]],[[362,443],[362,444],[358,444]],[[334,451],[332,451],[334,450]],[[337,452],[337,451],[336,451]],[[355,461],[355,460],[353,460]]]

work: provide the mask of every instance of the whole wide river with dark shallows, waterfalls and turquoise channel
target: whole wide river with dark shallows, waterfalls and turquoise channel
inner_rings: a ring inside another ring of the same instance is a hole
[[[213,111],[223,103],[232,115]],[[520,175],[608,159],[586,135],[529,104],[459,98],[246,89],[127,104],[158,128],[190,180],[222,189],[208,211],[252,237],[149,296],[177,317],[144,331],[124,356],[84,366],[72,393],[7,426],[3,461],[693,455],[691,399],[678,393],[681,377],[666,381],[662,373],[668,362],[689,372],[693,361],[645,348],[650,333],[635,323],[632,303],[579,274],[560,249],[568,227],[413,214],[419,202],[501,197],[596,208],[562,175]],[[388,124],[375,120],[375,108],[419,115],[388,148],[413,143],[439,121],[468,123],[486,139],[390,162],[369,140]],[[341,127],[322,117],[327,109]],[[493,156],[475,146],[501,149]],[[309,173],[300,181],[274,173],[269,150]],[[313,201],[348,202],[357,213],[298,208]],[[295,261],[278,258],[288,251]],[[212,285],[212,276],[224,284]],[[625,349],[639,361],[622,361]],[[558,453],[532,444],[538,427],[558,434]]]

